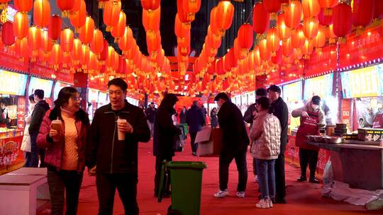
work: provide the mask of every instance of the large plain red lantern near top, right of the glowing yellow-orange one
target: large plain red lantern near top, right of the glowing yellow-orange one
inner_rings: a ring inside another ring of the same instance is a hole
[[[252,28],[257,35],[265,33],[269,28],[270,16],[265,10],[262,1],[258,1],[252,8]]]

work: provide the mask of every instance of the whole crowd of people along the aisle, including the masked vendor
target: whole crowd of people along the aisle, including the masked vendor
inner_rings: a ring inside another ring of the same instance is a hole
[[[110,103],[98,108],[89,122],[87,112],[80,108],[81,97],[76,88],[62,88],[50,109],[44,100],[44,91],[37,89],[29,96],[26,132],[21,149],[26,152],[26,167],[48,168],[48,185],[52,214],[62,214],[66,202],[67,214],[76,214],[79,191],[84,170],[95,176],[99,199],[99,214],[113,214],[116,189],[126,214],[138,214],[138,142],[153,139],[155,159],[154,196],[158,196],[160,171],[163,161],[172,161],[177,136],[182,133],[172,116],[178,101],[167,93],[158,108],[150,103],[146,110],[126,101],[128,86],[123,79],[108,83]],[[256,103],[250,105],[243,116],[231,103],[226,93],[218,93],[218,105],[210,112],[211,128],[222,129],[222,146],[219,155],[219,189],[213,196],[228,196],[228,170],[233,160],[238,169],[236,196],[245,197],[248,181],[246,156],[250,145],[253,173],[260,187],[259,208],[286,203],[284,178],[284,151],[287,145],[289,110],[280,97],[278,86],[257,89]],[[294,110],[293,117],[301,117],[297,134],[300,147],[301,177],[306,180],[309,164],[310,182],[315,178],[318,149],[304,143],[306,134],[317,134],[323,127],[321,98],[314,96],[305,107]],[[194,101],[191,108],[183,107],[179,121],[189,126],[191,151],[196,156],[196,134],[206,125],[206,110]],[[245,122],[250,123],[250,134]],[[40,160],[40,161],[39,161]],[[39,165],[40,163],[40,165]],[[170,180],[165,180],[163,197],[171,196]],[[66,200],[65,200],[66,199]]]

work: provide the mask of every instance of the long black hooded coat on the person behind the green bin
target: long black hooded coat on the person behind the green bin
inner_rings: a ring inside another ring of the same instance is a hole
[[[173,106],[177,103],[176,95],[169,93],[165,95],[155,118],[155,130],[153,135],[153,153],[155,156],[174,156],[175,136],[181,131],[173,124],[172,115],[175,110]]]

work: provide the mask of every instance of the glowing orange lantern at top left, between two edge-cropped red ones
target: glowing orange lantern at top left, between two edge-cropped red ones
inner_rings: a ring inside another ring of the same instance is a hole
[[[41,28],[49,25],[50,3],[48,0],[35,0],[33,4],[33,22]]]

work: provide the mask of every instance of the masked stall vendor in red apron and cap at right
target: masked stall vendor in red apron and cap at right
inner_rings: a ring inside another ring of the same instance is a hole
[[[296,132],[295,144],[299,147],[299,164],[301,165],[301,177],[299,182],[306,181],[306,168],[309,164],[310,180],[319,183],[315,178],[316,163],[318,163],[319,148],[306,143],[306,135],[318,135],[319,128],[326,126],[326,118],[320,108],[321,98],[314,95],[311,101],[304,107],[292,111],[293,117],[301,117],[301,124]]]

